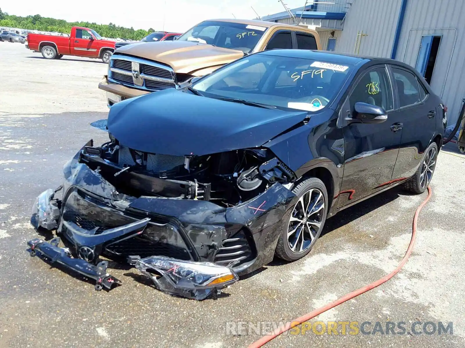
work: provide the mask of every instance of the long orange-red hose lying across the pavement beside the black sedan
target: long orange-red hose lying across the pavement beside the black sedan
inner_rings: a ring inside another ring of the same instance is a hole
[[[376,288],[377,286],[387,282],[389,279],[394,277],[402,267],[404,267],[405,263],[407,262],[408,258],[410,257],[410,254],[412,253],[413,250],[413,245],[415,244],[415,238],[417,235],[417,220],[418,220],[418,215],[420,213],[420,210],[425,206],[425,204],[428,202],[428,200],[431,198],[431,188],[428,187],[428,196],[425,198],[425,200],[419,205],[417,208],[415,215],[413,216],[413,226],[412,226],[412,238],[410,239],[410,244],[407,248],[407,251],[405,252],[404,258],[402,258],[402,261],[400,262],[399,266],[389,273],[387,276],[377,280],[376,282],[373,282],[372,284],[368,284],[364,286],[363,288],[360,288],[358,290],[352,291],[350,294],[347,294],[345,296],[340,297],[336,301],[332,303],[328,303],[326,306],[317,308],[312,310],[310,313],[307,313],[304,316],[300,316],[297,319],[294,319],[292,322],[288,322],[286,325],[281,326],[280,328],[276,329],[273,331],[272,334],[263,336],[260,338],[258,341],[253,342],[248,348],[259,348],[265,345],[267,342],[270,342],[273,338],[276,338],[277,336],[281,335],[283,332],[286,332],[289,329],[292,329],[293,327],[302,324],[303,322],[306,322],[307,320],[310,320],[314,318],[315,316],[318,316],[321,313],[326,312],[329,309],[332,309],[336,306],[338,306],[341,303],[344,303],[345,301],[348,301],[356,296],[359,296],[363,294],[364,292],[367,292],[368,290],[372,290],[373,288]]]

